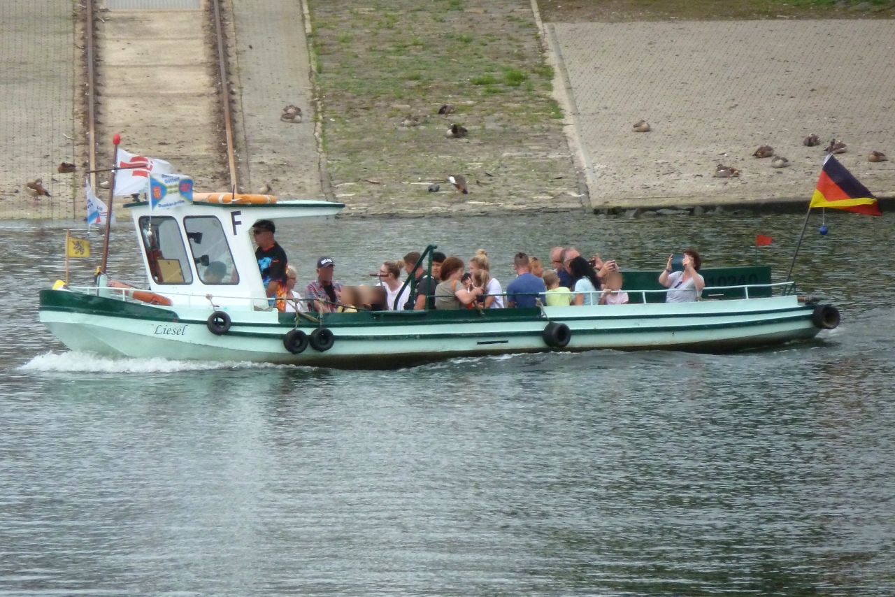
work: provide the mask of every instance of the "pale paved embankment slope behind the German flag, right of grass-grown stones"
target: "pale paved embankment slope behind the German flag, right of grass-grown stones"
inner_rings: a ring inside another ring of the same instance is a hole
[[[895,193],[895,21],[555,23],[593,209],[805,209],[832,138],[877,195]],[[646,119],[651,132],[632,124]],[[809,134],[821,137],[805,147]],[[768,144],[784,168],[755,158]],[[713,176],[718,164],[741,170]],[[801,206],[801,207],[798,207]]]

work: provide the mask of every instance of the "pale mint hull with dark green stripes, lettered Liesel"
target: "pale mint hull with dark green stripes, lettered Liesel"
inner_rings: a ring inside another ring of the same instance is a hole
[[[652,303],[490,311],[327,314],[335,343],[289,353],[295,320],[276,311],[231,313],[226,334],[209,331],[211,310],[172,310],[64,291],[41,293],[40,320],[75,351],[134,358],[251,361],[338,368],[392,368],[456,356],[673,349],[729,352],[804,340],[820,331],[813,307],[795,296],[700,303]],[[565,347],[545,343],[551,321],[571,331]],[[320,324],[302,320],[311,334]]]

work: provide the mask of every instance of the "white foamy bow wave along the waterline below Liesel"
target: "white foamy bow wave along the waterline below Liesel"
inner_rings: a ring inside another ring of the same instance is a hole
[[[112,358],[90,353],[38,354],[21,365],[19,371],[51,371],[66,373],[171,373],[176,371],[212,371],[216,369],[266,369],[290,367],[267,362],[202,362],[169,361],[161,357],[150,359]]]

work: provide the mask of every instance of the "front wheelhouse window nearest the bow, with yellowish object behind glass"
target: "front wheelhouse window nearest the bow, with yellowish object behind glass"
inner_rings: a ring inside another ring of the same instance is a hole
[[[149,275],[157,284],[192,284],[190,258],[174,217],[143,216],[140,233]]]

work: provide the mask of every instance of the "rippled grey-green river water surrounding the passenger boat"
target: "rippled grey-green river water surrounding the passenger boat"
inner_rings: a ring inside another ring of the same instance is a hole
[[[826,219],[795,274],[843,314],[816,341],[404,371],[70,354],[37,320],[64,230],[5,224],[0,594],[891,595],[895,217]],[[358,283],[433,242],[485,248],[506,286],[514,252],[558,243],[657,270],[695,246],[779,279],[800,225],[545,214],[277,237],[305,282],[320,255]],[[110,272],[140,283],[129,222],[112,244]]]

